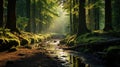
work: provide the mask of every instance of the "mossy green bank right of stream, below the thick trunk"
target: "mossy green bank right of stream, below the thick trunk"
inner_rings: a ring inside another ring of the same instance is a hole
[[[96,43],[96,42],[103,42],[107,40],[104,35],[100,33],[86,33],[81,36],[75,35],[68,35],[61,43],[67,43],[67,45],[75,46],[79,44],[85,43]]]

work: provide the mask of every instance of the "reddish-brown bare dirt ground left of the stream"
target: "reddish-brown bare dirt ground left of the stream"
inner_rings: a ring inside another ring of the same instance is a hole
[[[0,67],[61,67],[44,49],[18,48],[14,52],[0,52]]]

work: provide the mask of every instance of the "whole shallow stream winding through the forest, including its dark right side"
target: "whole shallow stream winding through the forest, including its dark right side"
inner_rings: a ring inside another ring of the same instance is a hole
[[[48,53],[63,67],[105,67],[102,60],[92,54],[84,54],[72,50],[59,48],[60,39],[51,39],[45,42]]]

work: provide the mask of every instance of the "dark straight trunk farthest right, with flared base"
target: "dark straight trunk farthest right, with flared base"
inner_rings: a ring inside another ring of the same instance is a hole
[[[112,7],[111,0],[105,0],[105,28],[104,31],[113,30],[112,28]]]

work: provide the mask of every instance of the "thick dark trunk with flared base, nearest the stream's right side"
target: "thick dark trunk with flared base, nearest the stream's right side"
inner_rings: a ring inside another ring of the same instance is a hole
[[[85,10],[85,0],[79,0],[79,27],[78,35],[89,32],[86,26],[86,10]]]

